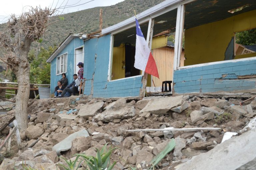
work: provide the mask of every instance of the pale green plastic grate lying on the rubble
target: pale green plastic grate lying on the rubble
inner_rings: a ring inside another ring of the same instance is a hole
[[[174,139],[171,139],[171,141],[165,146],[165,148],[159,152],[156,156],[154,156],[151,160],[151,168],[153,169],[153,166],[155,167],[169,152],[171,152],[176,146],[176,143]]]

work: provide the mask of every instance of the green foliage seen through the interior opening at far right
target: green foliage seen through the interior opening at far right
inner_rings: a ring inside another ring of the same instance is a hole
[[[237,32],[236,43],[242,45],[254,45],[256,44],[256,28]]]

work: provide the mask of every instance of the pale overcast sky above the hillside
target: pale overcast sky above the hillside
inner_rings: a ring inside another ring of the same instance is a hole
[[[5,0],[0,5],[0,24],[7,22],[11,14],[18,16],[28,11],[30,6],[41,6],[41,8],[65,6],[65,9],[60,9],[59,14],[66,14],[98,6],[115,5],[122,1],[124,0]]]

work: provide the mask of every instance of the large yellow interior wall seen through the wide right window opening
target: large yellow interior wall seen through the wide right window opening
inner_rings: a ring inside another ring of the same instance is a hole
[[[184,66],[223,61],[235,32],[252,28],[256,28],[256,10],[185,30]]]

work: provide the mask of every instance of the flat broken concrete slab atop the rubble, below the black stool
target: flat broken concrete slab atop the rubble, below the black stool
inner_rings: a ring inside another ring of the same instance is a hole
[[[183,96],[175,96],[175,97],[164,97],[164,98],[155,98],[148,102],[148,104],[140,111],[150,112],[152,114],[165,114],[171,108],[177,107],[183,103]]]

